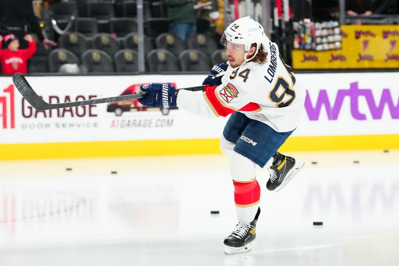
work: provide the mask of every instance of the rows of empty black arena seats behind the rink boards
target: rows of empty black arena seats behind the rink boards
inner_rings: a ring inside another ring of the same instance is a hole
[[[58,72],[62,64],[75,63],[87,72],[138,71],[136,5],[136,0],[69,0],[54,5],[59,25],[72,15],[75,19],[69,31],[55,39],[57,49],[46,50],[37,42],[28,71]],[[184,42],[170,33],[165,0],[144,0],[143,8],[146,70],[207,71],[227,60],[224,50],[217,50],[217,42],[202,33],[207,25]],[[208,23],[202,20],[200,25]]]

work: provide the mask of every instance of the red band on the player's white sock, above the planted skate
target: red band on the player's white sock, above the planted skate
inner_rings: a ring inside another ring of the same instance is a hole
[[[259,201],[260,186],[258,181],[249,183],[239,183],[233,181],[234,184],[234,202],[237,205],[249,205]]]

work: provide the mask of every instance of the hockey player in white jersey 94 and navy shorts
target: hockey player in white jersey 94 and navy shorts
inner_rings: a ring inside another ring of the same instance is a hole
[[[280,190],[301,169],[302,162],[277,150],[297,127],[305,89],[286,65],[276,43],[250,17],[231,23],[221,37],[227,64],[213,66],[204,80],[205,92],[180,90],[169,83],[143,85],[139,101],[149,107],[179,108],[205,117],[229,117],[220,148],[230,158],[230,174],[238,224],[224,240],[225,254],[251,250],[260,214],[260,186],[255,165],[267,168],[266,187]],[[217,74],[222,77],[217,77]]]

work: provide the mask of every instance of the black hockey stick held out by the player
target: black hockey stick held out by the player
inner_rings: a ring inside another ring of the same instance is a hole
[[[73,107],[73,106],[83,106],[83,105],[90,105],[90,104],[99,104],[99,103],[110,103],[110,102],[119,102],[119,101],[126,101],[126,100],[135,100],[141,99],[146,97],[147,93],[145,92],[138,92],[136,94],[129,94],[123,96],[115,96],[115,97],[108,97],[108,98],[99,98],[99,99],[92,99],[86,101],[77,101],[77,102],[64,102],[64,103],[47,103],[43,101],[43,99],[36,94],[36,92],[32,89],[29,85],[25,77],[21,73],[16,73],[12,76],[12,82],[14,83],[15,87],[18,89],[19,93],[22,94],[22,97],[36,110],[51,110],[51,109],[58,109],[58,108],[66,108],[66,107]],[[189,88],[180,88],[177,90],[191,90],[191,91],[199,91],[203,90],[204,86],[197,86],[197,87],[189,87]]]

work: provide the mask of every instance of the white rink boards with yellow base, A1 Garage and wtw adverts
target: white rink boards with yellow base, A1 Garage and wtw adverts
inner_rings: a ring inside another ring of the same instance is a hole
[[[110,97],[140,84],[202,83],[203,75],[27,77],[50,103]],[[306,87],[305,111],[285,151],[399,149],[397,73],[297,74]],[[294,87],[295,89],[295,87]],[[117,116],[118,110],[125,110]],[[165,115],[137,102],[36,111],[11,77],[0,77],[0,160],[220,153],[227,118],[183,110]]]

